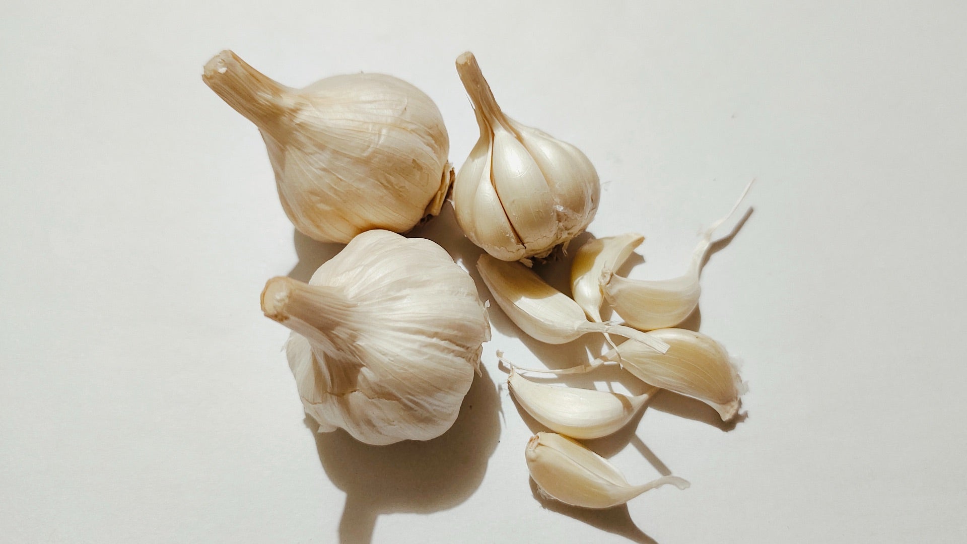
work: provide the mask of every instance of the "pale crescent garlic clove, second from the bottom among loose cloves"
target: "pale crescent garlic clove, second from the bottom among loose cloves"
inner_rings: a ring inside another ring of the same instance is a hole
[[[606,437],[645,408],[658,392],[653,387],[641,395],[560,387],[535,383],[511,370],[507,385],[522,408],[551,431],[571,438]]]

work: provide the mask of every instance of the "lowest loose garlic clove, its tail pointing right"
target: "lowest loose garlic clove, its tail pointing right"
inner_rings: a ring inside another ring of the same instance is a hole
[[[542,493],[571,506],[610,508],[665,484],[687,489],[678,476],[631,485],[614,465],[571,438],[538,433],[527,442],[527,468]]]

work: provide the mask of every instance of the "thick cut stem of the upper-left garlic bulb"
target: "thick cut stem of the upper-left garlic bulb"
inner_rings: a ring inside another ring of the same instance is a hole
[[[275,138],[284,137],[279,118],[287,110],[292,89],[255,70],[232,51],[221,51],[208,61],[202,79],[221,100]]]

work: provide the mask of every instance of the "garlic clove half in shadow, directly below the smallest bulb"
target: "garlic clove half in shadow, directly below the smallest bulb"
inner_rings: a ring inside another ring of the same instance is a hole
[[[494,301],[528,335],[547,344],[565,344],[591,332],[611,333],[664,351],[656,338],[622,325],[592,323],[563,292],[550,287],[533,270],[519,262],[482,255],[477,270]]]

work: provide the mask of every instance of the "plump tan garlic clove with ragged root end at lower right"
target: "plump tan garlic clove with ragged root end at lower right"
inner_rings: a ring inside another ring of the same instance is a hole
[[[700,332],[658,329],[648,333],[666,343],[666,353],[625,342],[601,356],[616,361],[645,383],[668,389],[716,408],[722,421],[735,417],[746,384],[739,369],[718,342]]]

